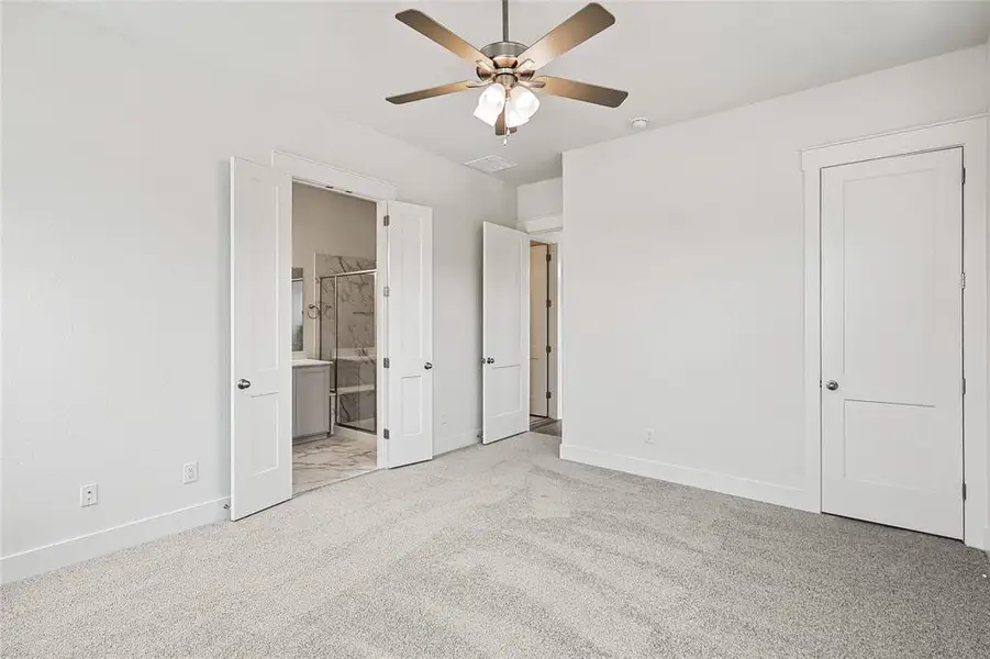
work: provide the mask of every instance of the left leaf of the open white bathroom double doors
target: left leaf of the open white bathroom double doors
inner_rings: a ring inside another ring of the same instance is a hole
[[[231,518],[292,496],[292,180],[231,158]]]

